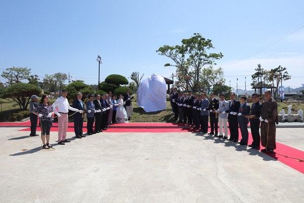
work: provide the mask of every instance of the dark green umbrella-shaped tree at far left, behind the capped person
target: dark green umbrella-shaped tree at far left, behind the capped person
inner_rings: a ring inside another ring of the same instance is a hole
[[[21,110],[26,110],[30,103],[31,95],[39,95],[41,89],[36,85],[27,83],[16,83],[6,88],[3,98],[12,98],[16,101]]]

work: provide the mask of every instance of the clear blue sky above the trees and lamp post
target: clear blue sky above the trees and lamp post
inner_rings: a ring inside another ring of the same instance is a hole
[[[164,64],[173,61],[156,50],[200,33],[212,40],[210,53],[223,54],[213,67],[223,69],[227,86],[245,89],[246,83],[250,90],[261,64],[265,70],[286,67],[291,79],[283,86],[297,88],[304,83],[303,8],[302,0],[3,0],[0,73],[20,66],[40,81],[65,73],[98,84],[99,55],[100,82],[111,74],[132,82],[132,72],[170,78],[176,69]]]

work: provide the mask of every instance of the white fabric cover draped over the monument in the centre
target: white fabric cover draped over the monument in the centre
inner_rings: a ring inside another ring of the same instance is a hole
[[[137,91],[137,105],[145,112],[165,110],[166,91],[164,77],[153,74],[141,81]]]

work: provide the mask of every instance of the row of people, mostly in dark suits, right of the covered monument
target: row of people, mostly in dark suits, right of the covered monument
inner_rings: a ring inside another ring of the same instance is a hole
[[[209,101],[206,93],[193,95],[192,91],[188,91],[187,94],[182,91],[177,92],[177,89],[173,88],[167,96],[170,97],[174,121],[194,126],[194,129],[216,138],[246,146],[248,145],[247,126],[250,122],[253,142],[248,147],[259,150],[261,143],[265,147],[263,151],[273,153],[276,149],[278,105],[271,91],[266,90],[264,95],[265,100],[260,103],[259,95],[253,93],[251,107],[247,103],[246,96],[241,96],[238,100],[235,93],[231,93],[230,100],[227,101],[224,94],[219,94],[217,99],[212,92]],[[210,119],[210,132],[208,132],[208,119]],[[239,128],[242,137],[240,141]]]

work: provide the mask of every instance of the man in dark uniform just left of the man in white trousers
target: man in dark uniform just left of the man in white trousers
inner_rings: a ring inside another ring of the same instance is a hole
[[[207,111],[210,111],[210,132],[208,134],[214,134],[214,137],[218,137],[217,130],[218,130],[218,113],[216,110],[219,108],[219,101],[215,98],[215,93],[211,92],[210,94],[211,100],[209,107],[206,108]],[[214,133],[215,132],[215,133]]]

